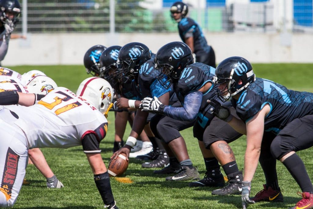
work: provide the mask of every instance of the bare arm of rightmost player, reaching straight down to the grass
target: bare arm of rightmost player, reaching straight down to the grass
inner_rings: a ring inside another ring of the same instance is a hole
[[[269,105],[265,105],[253,118],[246,122],[247,148],[244,155],[244,181],[252,181],[258,166],[264,132],[264,118],[269,111]]]

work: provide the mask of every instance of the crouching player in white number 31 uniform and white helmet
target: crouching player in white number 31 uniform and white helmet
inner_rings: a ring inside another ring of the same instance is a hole
[[[105,207],[118,208],[99,148],[108,125],[103,114],[110,108],[112,95],[110,84],[97,77],[85,79],[77,95],[64,87],[55,88],[45,97],[0,92],[0,105],[32,105],[0,108],[0,207],[12,207],[18,197],[28,149],[82,145]]]

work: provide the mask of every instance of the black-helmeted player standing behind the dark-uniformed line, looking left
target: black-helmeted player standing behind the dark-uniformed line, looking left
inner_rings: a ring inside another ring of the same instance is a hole
[[[196,62],[215,68],[214,50],[207,44],[207,40],[198,23],[186,17],[188,13],[187,5],[182,2],[175,2],[170,11],[172,19],[178,23],[178,32],[182,42],[187,44],[192,53],[195,54]]]

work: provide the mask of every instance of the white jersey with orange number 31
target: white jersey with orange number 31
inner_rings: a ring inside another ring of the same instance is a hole
[[[28,149],[79,146],[88,133],[95,134],[100,142],[107,131],[105,116],[64,87],[54,89],[33,106],[3,108],[0,117],[2,111],[7,112],[6,117],[1,118],[23,130]]]

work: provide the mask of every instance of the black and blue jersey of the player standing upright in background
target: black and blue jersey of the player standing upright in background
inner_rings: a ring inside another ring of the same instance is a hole
[[[179,36],[184,43],[185,40],[193,36],[193,46],[195,54],[208,54],[211,50],[211,46],[208,46],[207,40],[204,37],[201,27],[191,18],[182,18],[178,23]]]

